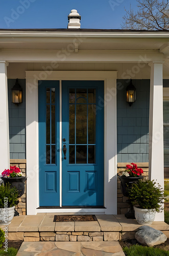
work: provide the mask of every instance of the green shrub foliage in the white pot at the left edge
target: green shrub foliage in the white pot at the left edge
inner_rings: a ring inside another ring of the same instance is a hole
[[[9,183],[0,186],[0,208],[12,207],[17,204],[18,190]]]

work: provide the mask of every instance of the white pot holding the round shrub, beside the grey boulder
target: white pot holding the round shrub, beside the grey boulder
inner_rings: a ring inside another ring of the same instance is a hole
[[[134,206],[135,218],[140,225],[151,225],[155,219],[156,210],[141,209]]]

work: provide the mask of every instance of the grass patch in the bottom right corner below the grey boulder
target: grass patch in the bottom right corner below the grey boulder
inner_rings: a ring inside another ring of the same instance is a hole
[[[124,247],[123,251],[126,256],[168,256],[169,252],[159,248],[147,247],[142,245],[133,245]]]

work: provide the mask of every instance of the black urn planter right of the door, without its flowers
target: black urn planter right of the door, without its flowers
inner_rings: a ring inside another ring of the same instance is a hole
[[[126,177],[126,176],[118,176],[120,179],[121,184],[121,191],[125,197],[128,197],[128,188],[132,186],[133,183],[137,182],[139,179],[143,179],[142,176],[137,177]],[[127,219],[135,219],[134,216],[134,208],[130,201],[130,199],[127,200],[127,202],[130,204],[130,210],[125,214]]]

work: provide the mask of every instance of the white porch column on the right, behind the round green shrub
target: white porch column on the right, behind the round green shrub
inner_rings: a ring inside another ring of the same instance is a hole
[[[150,63],[149,179],[164,187],[162,65]],[[164,221],[163,212],[155,221]]]

